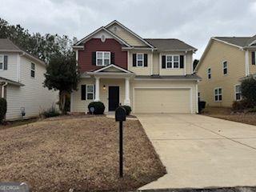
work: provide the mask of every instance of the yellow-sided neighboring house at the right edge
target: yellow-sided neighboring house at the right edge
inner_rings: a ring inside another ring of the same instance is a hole
[[[230,107],[241,99],[242,78],[256,74],[254,37],[210,38],[195,71],[200,100],[208,106]]]

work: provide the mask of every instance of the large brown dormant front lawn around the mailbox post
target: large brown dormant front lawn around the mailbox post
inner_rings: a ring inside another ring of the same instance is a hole
[[[124,123],[124,178],[118,178],[114,118],[56,118],[0,130],[0,181],[33,191],[135,190],[166,174],[138,120]]]

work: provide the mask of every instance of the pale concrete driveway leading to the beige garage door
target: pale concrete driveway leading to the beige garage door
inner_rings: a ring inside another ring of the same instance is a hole
[[[140,190],[256,186],[256,126],[197,114],[136,114],[168,174]]]

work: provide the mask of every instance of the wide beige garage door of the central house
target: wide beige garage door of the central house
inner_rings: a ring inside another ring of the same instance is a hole
[[[191,113],[190,89],[134,90],[135,113]]]

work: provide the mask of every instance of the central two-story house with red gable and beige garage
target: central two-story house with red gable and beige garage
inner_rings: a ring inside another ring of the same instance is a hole
[[[74,46],[82,71],[71,94],[71,111],[85,112],[101,101],[107,111],[119,105],[134,113],[198,111],[198,76],[193,74],[196,49],[174,38],[141,38],[114,21]]]

